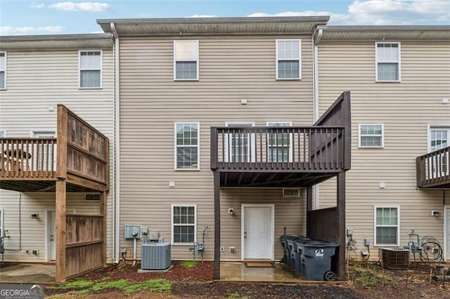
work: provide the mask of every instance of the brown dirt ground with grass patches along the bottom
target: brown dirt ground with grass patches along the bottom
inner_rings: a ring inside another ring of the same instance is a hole
[[[428,265],[411,265],[410,270],[383,270],[378,265],[352,265],[349,281],[335,286],[293,284],[240,284],[212,282],[211,262],[186,267],[179,262],[168,272],[137,273],[139,265],[120,265],[85,274],[69,281],[67,288],[46,288],[51,298],[450,298],[450,282],[430,281]],[[159,291],[121,289],[133,281],[167,281]],[[105,288],[74,286],[79,281],[108,285]],[[71,287],[72,283],[72,287]],[[117,284],[117,285],[116,285]],[[111,287],[113,286],[113,287]]]

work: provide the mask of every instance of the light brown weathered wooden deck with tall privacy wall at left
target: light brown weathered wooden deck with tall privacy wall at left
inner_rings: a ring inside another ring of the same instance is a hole
[[[64,105],[57,138],[0,138],[0,188],[56,194],[56,282],[106,262],[109,141]],[[100,215],[67,215],[67,192],[100,194]]]

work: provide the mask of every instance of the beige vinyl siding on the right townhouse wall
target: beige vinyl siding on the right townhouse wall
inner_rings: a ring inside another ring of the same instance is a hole
[[[449,42],[401,42],[401,82],[375,83],[375,42],[319,44],[319,106],[351,91],[352,170],[347,172],[347,227],[360,249],[374,238],[373,206],[400,206],[400,244],[411,229],[444,243],[443,192],[416,190],[416,157],[428,150],[428,124],[450,124]],[[383,149],[358,148],[358,124],[384,124]],[[379,183],[385,182],[385,189]],[[335,180],[321,184],[321,208],[335,205]],[[446,202],[449,197],[447,195]],[[377,256],[373,256],[377,258]]]

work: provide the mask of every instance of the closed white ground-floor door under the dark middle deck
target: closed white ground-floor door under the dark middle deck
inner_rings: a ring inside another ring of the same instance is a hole
[[[274,259],[273,205],[243,205],[243,260]]]

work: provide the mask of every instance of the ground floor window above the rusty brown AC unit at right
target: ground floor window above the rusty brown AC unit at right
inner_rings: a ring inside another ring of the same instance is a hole
[[[399,246],[399,206],[375,206],[375,246]]]

